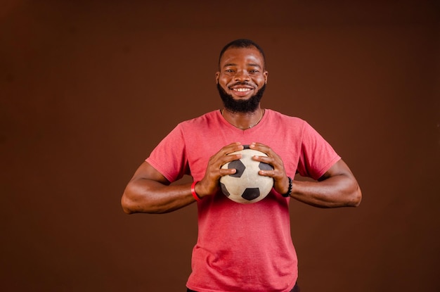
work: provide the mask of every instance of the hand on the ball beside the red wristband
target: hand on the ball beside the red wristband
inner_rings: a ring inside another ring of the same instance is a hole
[[[203,179],[195,184],[195,192],[200,196],[209,196],[216,193],[219,189],[219,179],[224,175],[234,174],[235,169],[222,169],[221,166],[229,163],[233,160],[238,160],[241,158],[241,154],[228,155],[235,151],[240,151],[243,146],[240,142],[235,142],[229,144],[220,149],[219,152],[215,153],[211,158],[209,158],[208,166]]]

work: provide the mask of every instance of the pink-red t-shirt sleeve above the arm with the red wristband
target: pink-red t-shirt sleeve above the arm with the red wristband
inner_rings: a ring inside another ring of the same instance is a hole
[[[150,153],[145,160],[169,182],[175,182],[189,174],[185,139],[181,125],[175,127]]]

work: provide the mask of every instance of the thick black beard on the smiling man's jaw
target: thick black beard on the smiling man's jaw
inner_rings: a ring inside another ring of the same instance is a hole
[[[261,89],[259,89],[259,91],[257,91],[257,93],[251,96],[249,99],[240,99],[238,101],[235,100],[231,94],[228,94],[218,83],[217,89],[219,90],[224,107],[227,110],[230,110],[233,113],[253,113],[259,106],[261,98],[264,94],[264,89],[266,89],[266,84],[264,84],[263,87],[261,87]]]

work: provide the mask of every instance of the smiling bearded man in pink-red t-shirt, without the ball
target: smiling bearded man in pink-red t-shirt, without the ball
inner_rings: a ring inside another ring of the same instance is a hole
[[[263,109],[268,78],[263,50],[248,39],[220,53],[216,83],[224,108],[181,122],[138,168],[122,196],[127,213],[162,213],[198,203],[198,241],[188,291],[297,291],[297,255],[288,205],[295,198],[321,208],[357,206],[361,191],[349,167],[304,120]],[[272,165],[263,200],[240,204],[219,191],[221,166],[243,145]],[[315,182],[297,182],[299,172]],[[192,184],[170,185],[183,174]]]

